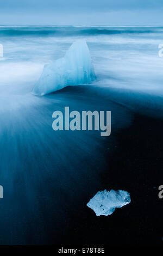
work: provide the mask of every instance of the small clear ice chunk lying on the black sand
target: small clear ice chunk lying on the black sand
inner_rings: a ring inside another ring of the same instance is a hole
[[[95,211],[96,216],[111,215],[116,208],[129,204],[130,194],[124,190],[98,191],[86,205]]]

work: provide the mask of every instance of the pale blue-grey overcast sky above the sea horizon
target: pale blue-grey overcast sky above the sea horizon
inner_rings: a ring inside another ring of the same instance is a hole
[[[0,0],[1,25],[163,25],[163,0]]]

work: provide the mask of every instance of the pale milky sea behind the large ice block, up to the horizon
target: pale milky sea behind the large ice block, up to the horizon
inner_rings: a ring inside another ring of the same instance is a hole
[[[78,38],[85,38],[89,45],[98,85],[162,93],[163,61],[158,45],[163,41],[163,27],[96,26],[1,26],[1,92],[10,87],[19,92],[20,84],[24,92],[30,92],[43,65],[64,56]]]

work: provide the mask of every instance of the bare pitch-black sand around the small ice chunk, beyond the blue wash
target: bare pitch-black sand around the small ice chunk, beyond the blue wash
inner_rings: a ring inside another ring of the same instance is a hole
[[[112,157],[105,153],[108,168],[101,174],[101,190],[126,190],[131,203],[111,216],[99,217],[84,203],[78,208],[71,205],[61,245],[162,244],[163,199],[158,197],[158,187],[163,184],[162,120],[135,114],[131,126],[116,137]],[[94,196],[87,195],[86,202]]]

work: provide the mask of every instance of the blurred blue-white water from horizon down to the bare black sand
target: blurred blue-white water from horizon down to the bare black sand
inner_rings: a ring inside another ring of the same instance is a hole
[[[32,95],[43,65],[64,56],[78,38],[87,41],[97,81]],[[61,241],[73,206],[86,205],[101,188],[115,131],[130,124],[133,111],[161,115],[162,42],[162,27],[0,27],[1,244]],[[52,113],[65,106],[111,111],[107,147],[98,131],[54,132]]]

